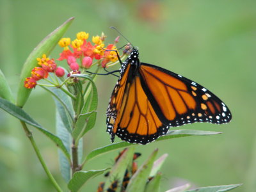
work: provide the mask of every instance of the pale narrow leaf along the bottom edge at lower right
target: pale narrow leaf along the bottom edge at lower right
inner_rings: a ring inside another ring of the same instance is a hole
[[[238,188],[241,185],[242,184],[234,184],[234,185],[228,185],[228,186],[211,186],[211,187],[191,189],[185,192],[224,192],[224,191],[230,191],[231,189]]]

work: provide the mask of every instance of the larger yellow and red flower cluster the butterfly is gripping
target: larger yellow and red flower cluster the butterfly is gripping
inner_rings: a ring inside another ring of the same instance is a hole
[[[119,41],[119,37],[115,39],[114,44],[109,44],[107,47],[104,47],[104,41],[106,40],[104,33],[101,36],[93,36],[92,43],[88,41],[88,37],[88,33],[81,31],[77,33],[76,39],[72,42],[70,38],[62,38],[59,45],[63,47],[63,51],[60,53],[58,60],[67,60],[71,70],[79,70],[81,67],[88,69],[93,65],[93,60],[97,60],[97,64],[102,67],[106,67],[109,61],[115,62],[118,60],[115,45]],[[77,63],[77,59],[82,61],[81,65]]]

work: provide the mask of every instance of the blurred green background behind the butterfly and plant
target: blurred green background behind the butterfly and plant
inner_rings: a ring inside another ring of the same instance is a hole
[[[221,131],[139,145],[142,163],[154,148],[168,153],[163,166],[162,191],[190,182],[193,186],[243,183],[234,191],[256,189],[255,51],[256,1],[67,1],[0,0],[0,68],[16,95],[22,65],[33,48],[70,17],[76,17],[65,36],[79,31],[108,35],[115,26],[140,48],[140,60],[172,70],[209,88],[230,108],[230,124],[193,124],[179,129]],[[120,47],[125,40],[121,38]],[[57,58],[57,47],[51,57]],[[100,76],[99,113],[95,128],[84,138],[84,154],[108,145],[105,111],[116,77]],[[36,88],[24,109],[40,124],[54,130],[54,102]],[[31,127],[54,177],[62,179],[57,148]],[[118,141],[118,139],[116,139]],[[88,163],[84,169],[113,164],[112,152]],[[81,191],[96,191],[103,176],[90,180]],[[68,191],[67,189],[65,189]],[[0,111],[0,191],[54,191],[35,156],[19,121]]]

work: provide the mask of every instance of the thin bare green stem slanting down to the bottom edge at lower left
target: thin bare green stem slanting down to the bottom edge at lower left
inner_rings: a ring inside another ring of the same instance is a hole
[[[40,151],[38,149],[38,147],[36,146],[36,143],[35,143],[35,140],[33,138],[33,135],[32,135],[32,132],[29,131],[27,125],[25,124],[25,122],[21,121],[20,120],[20,123],[22,124],[22,127],[26,133],[26,136],[28,136],[29,138],[29,141],[31,142],[35,152],[36,152],[36,156],[38,157],[40,163],[42,164],[44,170],[45,170],[45,173],[47,174],[47,176],[49,177],[49,179],[51,180],[53,186],[56,188],[57,191],[60,191],[60,192],[63,192],[62,189],[60,188],[60,186],[58,185],[58,183],[56,182],[56,180],[54,179],[54,177],[52,176],[50,170],[47,168],[45,162],[44,162],[44,159],[43,157],[41,156],[40,154]]]

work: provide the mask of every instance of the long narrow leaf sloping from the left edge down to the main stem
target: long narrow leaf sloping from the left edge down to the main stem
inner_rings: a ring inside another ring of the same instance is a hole
[[[49,139],[51,139],[60,149],[63,151],[65,156],[70,159],[70,154],[68,154],[67,148],[63,145],[63,142],[61,141],[58,136],[52,134],[51,132],[47,131],[39,125],[31,116],[28,115],[23,109],[19,108],[18,106],[15,106],[11,102],[8,102],[8,100],[0,98],[0,108],[2,108],[7,113],[10,113],[10,115],[15,116],[16,118],[19,118],[19,120],[32,125],[33,127],[36,127],[38,131],[41,131],[47,136]]]

